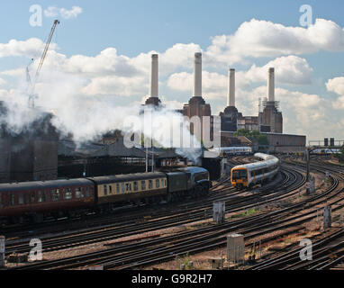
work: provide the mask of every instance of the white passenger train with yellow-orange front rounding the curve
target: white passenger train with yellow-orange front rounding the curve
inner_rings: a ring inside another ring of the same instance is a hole
[[[279,171],[279,159],[272,155],[256,153],[262,161],[235,166],[231,169],[231,185],[242,189],[273,178]]]

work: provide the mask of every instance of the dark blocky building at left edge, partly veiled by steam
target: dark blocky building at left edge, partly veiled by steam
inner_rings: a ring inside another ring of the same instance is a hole
[[[0,111],[7,111],[4,103]],[[20,134],[0,130],[0,183],[58,178],[58,133],[44,114]]]

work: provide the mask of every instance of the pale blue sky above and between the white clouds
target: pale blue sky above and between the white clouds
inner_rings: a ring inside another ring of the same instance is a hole
[[[340,46],[341,43],[338,44],[339,48],[336,49],[336,51],[331,50],[329,43],[325,45],[325,48],[323,48],[322,44],[319,44],[320,49],[316,51],[312,51],[312,48],[310,51],[308,46],[303,49],[302,43],[300,44],[300,49],[292,50],[290,53],[278,53],[278,51],[274,51],[271,55],[265,52],[264,55],[259,54],[259,56],[257,56],[255,53],[258,52],[251,54],[248,51],[245,55],[242,55],[242,57],[240,56],[240,59],[229,60],[228,63],[226,63],[226,60],[223,60],[223,58],[219,61],[216,60],[216,62],[211,56],[213,54],[206,54],[206,51],[209,50],[209,47],[213,44],[213,37],[234,35],[240,28],[240,25],[243,23],[250,23],[253,18],[266,22],[264,24],[273,23],[275,26],[281,24],[283,27],[293,27],[294,31],[296,31],[295,28],[297,27],[302,28],[299,23],[301,16],[299,9],[302,4],[309,4],[312,6],[313,22],[315,22],[315,19],[324,19],[342,28],[344,27],[344,20],[342,18],[344,3],[340,0],[313,0],[305,3],[300,0],[3,1],[0,10],[0,44],[6,44],[10,40],[26,41],[32,38],[38,38],[44,41],[47,39],[54,17],[49,18],[43,15],[42,26],[32,27],[29,24],[29,18],[31,16],[29,8],[32,4],[40,4],[43,11],[51,6],[58,7],[59,9],[65,8],[67,10],[72,9],[73,6],[82,8],[82,13],[77,14],[76,17],[64,19],[58,16],[61,23],[53,38],[53,42],[59,46],[59,49],[56,49],[56,53],[64,55],[66,58],[82,55],[89,57],[89,61],[95,64],[94,60],[97,55],[105,49],[115,48],[118,56],[122,55],[126,58],[123,61],[130,62],[131,67],[138,68],[142,73],[142,77],[137,82],[138,87],[140,85],[145,85],[144,76],[147,78],[147,85],[149,84],[149,74],[146,73],[145,67],[140,66],[142,64],[137,59],[140,53],[147,54],[146,58],[148,58],[149,52],[154,50],[158,51],[159,54],[161,53],[163,57],[164,52],[174,47],[177,43],[186,45],[195,43],[195,45],[198,45],[197,47],[204,51],[205,57],[208,55],[208,58],[204,58],[204,70],[209,73],[215,73],[217,76],[226,76],[227,67],[229,65],[235,67],[238,72],[245,73],[248,72],[253,65],[256,67],[264,67],[269,61],[273,61],[276,58],[296,57],[295,69],[300,67],[300,65],[303,65],[303,69],[307,71],[312,69],[312,75],[310,76],[311,83],[303,83],[303,81],[298,81],[297,79],[294,84],[290,84],[287,80],[278,82],[278,73],[276,72],[276,86],[291,93],[301,93],[304,97],[307,97],[308,94],[317,95],[319,99],[313,99],[315,102],[313,103],[313,107],[311,107],[314,111],[316,110],[316,105],[322,105],[321,101],[326,103],[326,101],[335,102],[339,100],[338,108],[341,104],[342,98],[340,97],[342,97],[342,92],[339,88],[341,85],[340,77],[344,76],[342,68],[344,49]],[[324,34],[327,33],[326,29],[323,31]],[[285,29],[285,31],[287,31],[287,29]],[[319,31],[321,31],[321,29]],[[330,33],[331,31],[329,31],[329,35]],[[276,34],[270,35],[269,37],[271,37],[270,40],[273,41]],[[314,38],[316,40],[316,37]],[[314,38],[312,41],[314,41]],[[259,45],[263,44],[259,43]],[[187,51],[189,50],[192,49],[187,49]],[[37,51],[40,51],[40,49]],[[231,54],[228,55],[231,56]],[[52,56],[50,56],[50,58],[52,58]],[[192,62],[193,53],[190,52],[189,58]],[[0,71],[23,69],[23,67],[26,67],[28,64],[29,59],[30,55],[24,53],[23,55],[0,57]],[[87,63],[87,59],[88,58],[84,59],[86,61],[85,63]],[[303,59],[306,61],[309,68],[303,63]],[[53,65],[49,63],[50,60],[47,59],[47,61],[47,68],[53,67]],[[163,58],[161,58],[161,61],[164,61]],[[168,61],[168,63],[171,61],[173,62],[173,59],[168,59]],[[178,62],[178,59],[176,59],[176,62]],[[64,67],[66,67],[66,65]],[[70,70],[71,64],[69,63],[68,65]],[[171,66],[173,65],[171,64]],[[147,68],[149,70],[149,67]],[[127,69],[127,67],[125,67],[125,69]],[[70,72],[69,70],[68,73]],[[116,71],[118,71],[118,67]],[[183,72],[187,74],[181,75],[180,73]],[[87,73],[84,73],[82,76],[88,77],[89,71]],[[99,75],[89,76],[89,78],[87,78],[88,82],[86,82],[89,84],[93,81],[100,81],[101,76],[104,77],[104,73],[103,71]],[[117,72],[112,72],[112,70],[110,72],[107,70],[106,73],[108,73],[106,76],[120,76],[116,74]],[[181,81],[183,80],[181,76],[184,76],[185,81],[187,81],[187,76],[191,73],[192,65],[186,66],[183,65],[183,63],[176,65],[176,67],[173,66],[173,68],[166,73],[162,73],[160,76],[160,81],[162,82],[160,85],[160,93],[165,96],[167,101],[186,103],[191,95],[192,87],[190,87],[190,92],[186,91],[186,89],[181,89],[180,86],[174,87],[173,85],[176,82],[172,81],[173,79],[171,76],[178,74],[175,75],[174,80],[177,78],[178,81]],[[239,76],[240,73],[237,77]],[[249,87],[246,85],[245,89],[242,89],[245,90],[242,92],[242,97],[246,97],[244,98],[245,101],[255,102],[257,97],[254,98],[253,94],[258,93],[255,89],[266,84],[261,81],[260,76],[254,76],[254,79],[252,79],[252,74],[248,74],[247,76],[249,78]],[[3,76],[0,74],[0,78],[6,81],[6,85],[3,85],[4,90],[15,89],[14,83],[17,84],[17,82],[14,81],[13,76],[8,76],[8,73]],[[115,81],[121,81],[121,79],[122,78],[116,78]],[[330,79],[336,79],[336,81],[333,81],[331,87],[328,88],[326,84]],[[104,79],[102,81],[104,84]],[[128,79],[128,81],[131,80]],[[133,83],[134,82],[132,82],[131,85],[134,85]],[[148,92],[145,86],[142,92],[138,88],[133,91],[132,94],[129,93],[123,96],[120,92],[112,93],[110,86],[111,85],[108,84],[105,85],[107,94],[104,92],[104,89],[101,93],[98,93],[99,90],[101,90],[99,82],[95,83],[91,88],[96,90],[95,97],[111,96],[116,102],[122,105],[128,105],[131,102],[139,102],[141,98],[147,94],[144,91]],[[88,89],[87,91],[91,90]],[[263,88],[261,87],[259,91],[262,90]],[[207,98],[206,95],[204,97],[212,104],[213,113],[220,112],[222,106],[226,103],[226,91],[224,87],[222,86],[222,88],[219,87],[214,90],[208,87],[205,88],[204,91],[210,95],[209,98]],[[216,93],[222,94],[222,96],[214,96],[213,94]],[[281,92],[281,95],[282,94],[285,94],[285,97],[287,97],[288,93],[283,91]],[[238,92],[238,97],[240,97],[240,95],[240,92]],[[297,95],[294,94],[294,97],[297,97]],[[311,139],[321,139],[322,137],[331,137],[332,135],[336,138],[344,139],[343,132],[339,131],[340,128],[344,127],[344,117],[342,116],[344,112],[344,102],[343,109],[332,109],[332,106],[329,104],[324,111],[321,111],[321,115],[318,115],[320,118],[322,117],[322,128],[330,127],[330,117],[334,117],[335,121],[338,123],[342,121],[342,124],[338,124],[336,127],[331,126],[331,128],[329,128],[331,135],[327,135],[324,131],[312,130],[312,123],[308,123],[307,125],[304,124],[303,126],[303,123],[297,122],[297,125],[300,124],[300,127],[295,127],[294,129],[296,123],[294,119],[297,118],[297,115],[301,114],[301,112],[297,111],[297,108],[292,107],[291,103],[287,103],[287,99],[285,99],[285,104],[283,103],[284,99],[277,100],[281,100],[281,107],[285,109],[283,112],[286,120],[286,132],[307,134],[310,135]],[[317,102],[318,100],[320,102]],[[305,100],[305,102],[307,102],[307,100]],[[255,107],[257,108],[256,103],[247,104],[243,102],[243,100],[239,106],[244,113],[251,114],[255,113]],[[304,109],[307,109],[307,107],[305,106]],[[313,114],[314,113],[312,113],[312,115]],[[303,119],[302,115],[299,116],[301,117],[299,120]],[[287,123],[288,119],[290,120],[290,124]],[[327,126],[326,123],[329,125]]]

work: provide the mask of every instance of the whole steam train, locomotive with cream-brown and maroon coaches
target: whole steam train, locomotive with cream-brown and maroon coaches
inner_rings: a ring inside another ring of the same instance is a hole
[[[209,192],[209,173],[186,167],[169,173],[0,184],[0,223],[112,211],[123,203],[174,202]]]

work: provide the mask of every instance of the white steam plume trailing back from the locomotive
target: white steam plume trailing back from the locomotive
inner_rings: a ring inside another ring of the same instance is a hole
[[[155,146],[177,148],[179,155],[195,162],[201,156],[201,144],[190,134],[189,124],[179,112],[165,107],[142,113],[140,104],[119,106],[116,97],[82,94],[86,85],[84,78],[46,71],[35,89],[39,95],[35,101],[37,109],[28,108],[24,87],[15,90],[6,99],[8,112],[0,117],[0,124],[5,123],[8,130],[20,133],[33,121],[40,120],[45,112],[51,112],[54,127],[62,136],[71,133],[76,142],[99,139],[106,132],[122,130],[130,136],[144,134],[146,139],[153,139]],[[136,139],[138,143],[140,139]]]

